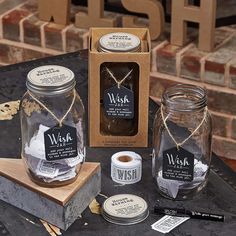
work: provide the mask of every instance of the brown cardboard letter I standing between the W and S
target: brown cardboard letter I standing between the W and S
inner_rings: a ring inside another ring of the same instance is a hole
[[[104,0],[88,0],[88,14],[77,13],[75,26],[79,28],[114,27],[116,20],[104,18]]]

